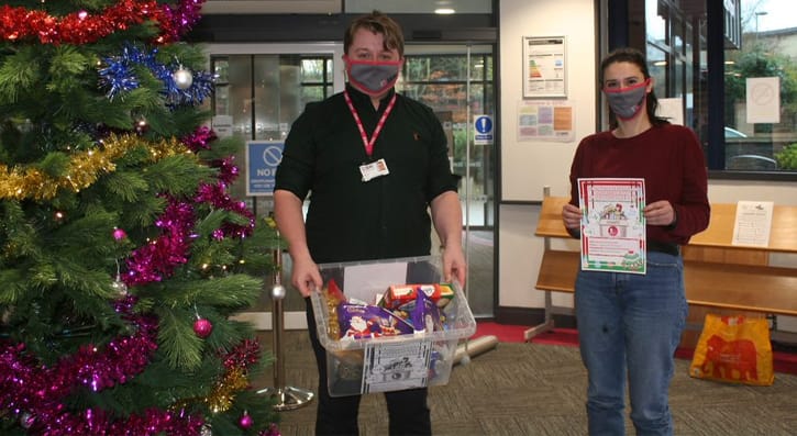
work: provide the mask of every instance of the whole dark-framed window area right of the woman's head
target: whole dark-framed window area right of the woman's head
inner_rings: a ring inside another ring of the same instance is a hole
[[[684,123],[698,134],[710,170],[754,178],[797,172],[797,24],[790,2],[721,3],[645,0],[640,10],[628,0],[629,21],[645,23],[644,41],[632,32],[629,44],[644,48],[656,96],[683,98]],[[711,43],[709,23],[722,25],[722,46]],[[709,58],[723,59],[711,74]],[[712,96],[723,104],[712,104]],[[709,125],[709,119],[721,125]]]

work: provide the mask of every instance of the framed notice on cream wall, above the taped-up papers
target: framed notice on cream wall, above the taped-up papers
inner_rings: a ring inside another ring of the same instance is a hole
[[[523,36],[523,98],[567,97],[564,36]]]

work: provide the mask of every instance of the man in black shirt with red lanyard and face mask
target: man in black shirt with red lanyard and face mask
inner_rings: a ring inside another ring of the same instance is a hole
[[[429,107],[394,89],[403,64],[401,29],[374,11],[350,24],[343,45],[346,89],[308,104],[296,120],[274,191],[275,217],[294,265],[291,283],[308,301],[319,435],[357,434],[361,398],[330,398],[326,391],[326,355],[308,299],[313,287],[323,287],[317,264],[429,255],[433,223],[444,247],[444,279],[464,286],[467,268],[457,177],[443,128]],[[425,388],[385,395],[391,435],[431,434]]]

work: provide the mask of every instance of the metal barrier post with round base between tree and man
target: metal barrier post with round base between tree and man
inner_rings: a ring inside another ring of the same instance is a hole
[[[276,273],[274,275],[274,284],[272,286],[272,332],[274,346],[274,387],[265,388],[257,391],[258,394],[269,395],[275,399],[274,410],[289,411],[299,409],[310,401],[314,394],[311,391],[301,388],[285,385],[285,342],[283,336],[285,333],[285,316],[283,309],[283,300],[285,300],[286,290],[280,283],[280,273],[283,270],[283,250],[277,247],[274,250],[274,265]]]

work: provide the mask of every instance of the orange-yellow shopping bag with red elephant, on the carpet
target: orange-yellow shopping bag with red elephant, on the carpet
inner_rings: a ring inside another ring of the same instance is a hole
[[[767,321],[706,314],[689,374],[698,379],[771,385],[775,373]]]

